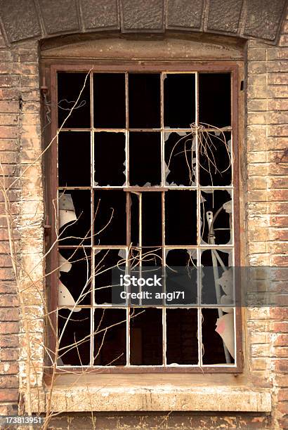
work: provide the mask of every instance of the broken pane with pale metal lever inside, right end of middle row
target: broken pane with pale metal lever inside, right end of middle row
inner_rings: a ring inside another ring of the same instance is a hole
[[[231,244],[233,240],[232,191],[201,190],[200,211],[202,243],[209,245]]]

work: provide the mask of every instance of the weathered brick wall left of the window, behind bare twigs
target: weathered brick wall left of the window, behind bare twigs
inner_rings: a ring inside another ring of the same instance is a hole
[[[19,367],[23,368],[25,363],[19,348],[19,344],[25,344],[25,337],[20,328],[23,308],[21,310],[19,306],[18,289],[25,289],[25,282],[27,284],[25,275],[19,274],[22,276],[21,284],[16,281],[9,257],[11,247],[4,215],[10,214],[8,222],[13,223],[15,259],[20,273],[29,269],[29,260],[37,261],[43,250],[41,160],[25,172],[27,163],[34,160],[41,150],[39,98],[37,42],[7,48],[0,35],[0,183],[9,188],[10,201],[7,211],[4,193],[0,192],[1,415],[13,415],[18,411]],[[31,295],[31,289],[24,294],[24,299],[28,295]],[[29,301],[25,299],[25,304],[30,305],[31,300],[32,297]]]

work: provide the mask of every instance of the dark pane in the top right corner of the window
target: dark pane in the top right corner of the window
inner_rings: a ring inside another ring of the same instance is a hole
[[[230,73],[199,73],[199,122],[231,125]]]

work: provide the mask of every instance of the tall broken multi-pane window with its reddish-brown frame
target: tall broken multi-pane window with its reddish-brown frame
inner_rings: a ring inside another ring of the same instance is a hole
[[[236,67],[51,70],[59,370],[239,370]],[[166,296],[115,301],[128,268]]]

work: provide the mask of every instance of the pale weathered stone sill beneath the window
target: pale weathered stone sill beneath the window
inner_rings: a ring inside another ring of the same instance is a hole
[[[104,375],[98,375],[103,379]],[[128,378],[123,381],[101,381],[91,384],[74,381],[71,386],[57,383],[53,388],[52,410],[54,412],[86,411],[223,411],[223,412],[270,412],[269,390],[255,390],[249,386],[227,386],[224,384],[189,384],[178,375],[178,383],[133,384]],[[76,384],[75,384],[76,382]],[[46,412],[50,387],[34,394],[34,412]]]

